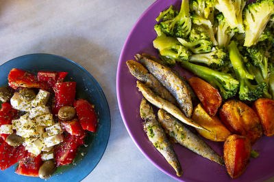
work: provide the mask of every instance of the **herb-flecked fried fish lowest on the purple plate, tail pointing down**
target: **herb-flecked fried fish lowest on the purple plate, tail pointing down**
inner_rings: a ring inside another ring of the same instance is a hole
[[[166,134],[162,129],[159,121],[155,119],[153,109],[147,100],[145,100],[145,98],[142,98],[142,102],[140,104],[140,116],[145,120],[143,125],[149,140],[152,142],[154,147],[164,156],[166,161],[171,164],[171,166],[176,171],[176,175],[178,177],[182,176],[181,164],[177,159],[177,155],[173,150],[171,142],[169,142],[168,138],[166,137]]]

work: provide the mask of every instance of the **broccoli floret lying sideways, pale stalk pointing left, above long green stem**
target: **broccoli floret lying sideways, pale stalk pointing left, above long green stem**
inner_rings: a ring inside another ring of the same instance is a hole
[[[221,66],[225,63],[226,53],[222,49],[215,49],[212,52],[192,55],[190,62],[203,63],[206,65]]]

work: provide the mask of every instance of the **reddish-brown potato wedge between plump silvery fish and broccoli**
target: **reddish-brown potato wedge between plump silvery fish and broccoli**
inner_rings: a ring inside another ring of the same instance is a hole
[[[188,79],[188,82],[195,91],[206,112],[208,112],[210,116],[216,115],[218,108],[222,104],[222,97],[219,91],[208,82],[198,77],[192,77]]]

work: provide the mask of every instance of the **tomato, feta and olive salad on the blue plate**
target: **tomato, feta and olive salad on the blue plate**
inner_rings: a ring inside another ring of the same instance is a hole
[[[75,100],[76,82],[67,72],[12,69],[0,87],[0,168],[18,162],[15,172],[48,179],[58,166],[71,164],[86,130],[97,132],[95,106]]]

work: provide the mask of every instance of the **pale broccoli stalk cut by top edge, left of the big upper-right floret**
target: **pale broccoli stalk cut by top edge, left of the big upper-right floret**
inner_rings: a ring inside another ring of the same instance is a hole
[[[244,33],[242,10],[246,3],[246,0],[218,0],[215,8],[223,13],[225,20],[232,29],[237,28],[239,33]]]

